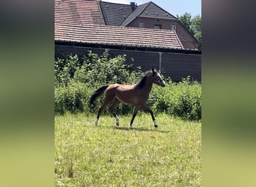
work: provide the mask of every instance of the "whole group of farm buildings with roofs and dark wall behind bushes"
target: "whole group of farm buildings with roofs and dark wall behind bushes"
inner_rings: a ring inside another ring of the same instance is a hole
[[[198,41],[152,1],[55,0],[55,55],[85,55],[89,49],[126,55],[127,63],[156,67],[174,81],[186,76],[201,81]]]

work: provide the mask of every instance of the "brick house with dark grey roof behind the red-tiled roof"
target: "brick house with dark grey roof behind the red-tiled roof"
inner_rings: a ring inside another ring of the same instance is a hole
[[[138,6],[100,1],[100,7],[106,25],[173,30],[184,49],[198,49],[198,41],[181,22],[152,1]]]

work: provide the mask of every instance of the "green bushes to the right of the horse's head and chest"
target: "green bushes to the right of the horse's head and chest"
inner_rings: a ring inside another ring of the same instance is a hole
[[[165,88],[153,88],[150,99],[158,113],[165,112],[186,120],[201,120],[201,84],[191,82],[189,77],[178,83],[170,81]]]

